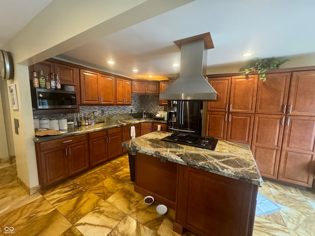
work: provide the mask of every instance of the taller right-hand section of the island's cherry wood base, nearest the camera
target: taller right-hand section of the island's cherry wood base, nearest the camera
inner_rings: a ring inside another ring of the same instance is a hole
[[[178,165],[173,231],[199,236],[252,236],[258,186]]]

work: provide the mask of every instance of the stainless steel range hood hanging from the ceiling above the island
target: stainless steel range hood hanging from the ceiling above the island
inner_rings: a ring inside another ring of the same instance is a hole
[[[210,32],[174,41],[181,48],[180,77],[159,94],[160,100],[219,101],[206,80],[207,50],[214,48]]]

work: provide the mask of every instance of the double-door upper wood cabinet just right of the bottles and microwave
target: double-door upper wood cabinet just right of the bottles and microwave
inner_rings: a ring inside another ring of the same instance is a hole
[[[80,70],[81,104],[114,105],[116,78]]]

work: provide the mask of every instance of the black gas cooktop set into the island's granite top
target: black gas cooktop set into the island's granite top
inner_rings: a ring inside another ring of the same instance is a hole
[[[172,133],[171,135],[162,139],[163,141],[184,144],[196,148],[204,148],[208,150],[214,150],[217,146],[218,139],[213,137],[205,137],[195,134],[186,133]]]

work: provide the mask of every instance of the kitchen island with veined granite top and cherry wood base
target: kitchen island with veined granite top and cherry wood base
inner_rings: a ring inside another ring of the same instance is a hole
[[[200,236],[251,236],[262,178],[249,147],[218,141],[215,150],[174,144],[153,132],[122,143],[136,152],[135,191],[174,208],[173,230]]]

